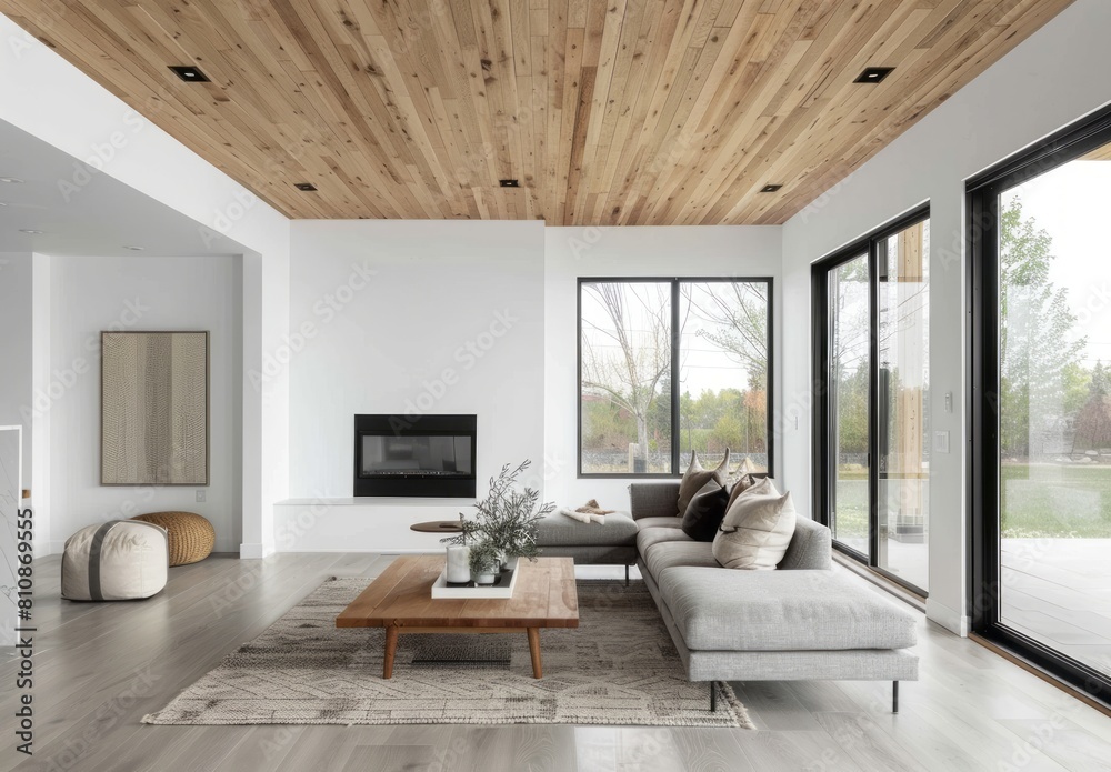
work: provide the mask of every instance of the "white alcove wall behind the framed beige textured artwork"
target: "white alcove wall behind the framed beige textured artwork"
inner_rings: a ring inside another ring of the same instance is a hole
[[[50,404],[51,539],[144,512],[208,518],[217,551],[241,541],[241,281],[239,258],[50,258],[50,369],[64,387]],[[100,332],[210,331],[210,484],[100,485]],[[204,490],[207,502],[196,501]]]

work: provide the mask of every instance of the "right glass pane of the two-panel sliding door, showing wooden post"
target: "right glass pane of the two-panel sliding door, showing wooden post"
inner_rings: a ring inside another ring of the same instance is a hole
[[[929,590],[930,222],[879,244],[879,554]]]

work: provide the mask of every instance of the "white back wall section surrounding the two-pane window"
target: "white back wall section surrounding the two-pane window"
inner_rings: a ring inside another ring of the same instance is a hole
[[[728,225],[548,228],[544,248],[547,498],[560,504],[598,499],[603,507],[628,509],[629,480],[578,479],[577,280],[580,277],[771,277],[778,383],[782,230]],[[778,388],[775,391],[778,413]],[[777,437],[777,470],[782,469],[781,445]]]

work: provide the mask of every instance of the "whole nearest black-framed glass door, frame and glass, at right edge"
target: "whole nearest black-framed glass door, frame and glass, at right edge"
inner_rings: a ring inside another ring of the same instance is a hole
[[[972,629],[1111,704],[1111,110],[968,183]]]

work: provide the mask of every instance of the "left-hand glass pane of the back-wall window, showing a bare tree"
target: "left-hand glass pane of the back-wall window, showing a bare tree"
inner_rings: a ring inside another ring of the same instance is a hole
[[[672,473],[671,283],[580,291],[582,472]]]

